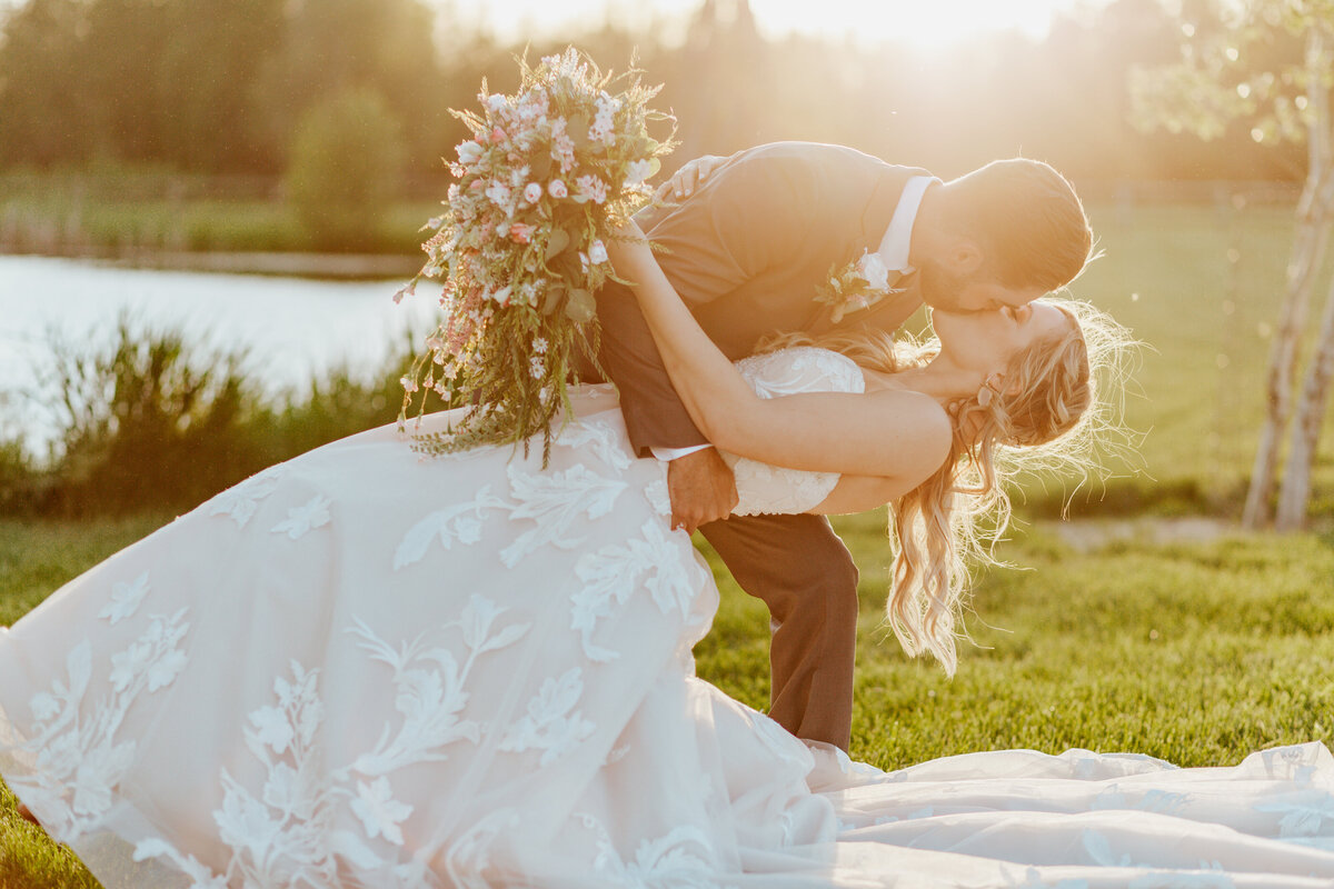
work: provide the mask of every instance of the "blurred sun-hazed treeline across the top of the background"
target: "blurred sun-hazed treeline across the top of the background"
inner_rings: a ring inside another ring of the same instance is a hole
[[[1113,0],[1058,17],[1042,41],[991,35],[926,51],[766,40],[746,0],[700,0],[642,33],[590,21],[527,49],[574,43],[618,71],[638,53],[679,119],[678,164],[808,139],[943,176],[1025,153],[1075,181],[1298,177],[1299,147],[1261,148],[1241,128],[1201,143],[1131,124],[1127,72],[1177,59],[1182,20],[1207,27],[1215,16],[1193,12],[1222,1],[1183,0],[1174,16],[1158,0]],[[350,164],[347,179],[362,175],[331,135],[355,119],[382,143],[372,160],[392,180],[382,195],[402,181],[439,195],[440,157],[466,137],[447,109],[475,105],[483,77],[512,88],[524,51],[423,0],[27,0],[3,25],[0,171],[151,164],[287,175],[296,191],[303,128],[307,153],[323,148]],[[1257,69],[1298,48],[1269,51]],[[320,113],[325,132],[312,135]]]

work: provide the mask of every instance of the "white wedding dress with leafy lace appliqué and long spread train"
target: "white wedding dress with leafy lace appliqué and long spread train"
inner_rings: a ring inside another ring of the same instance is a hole
[[[740,368],[862,387],[820,349]],[[1334,885],[1319,744],[884,773],[695,678],[716,589],[664,468],[614,388],[574,407],[547,469],[375,429],[76,578],[0,630],[0,774],[107,889]],[[750,512],[836,482],[735,462]]]

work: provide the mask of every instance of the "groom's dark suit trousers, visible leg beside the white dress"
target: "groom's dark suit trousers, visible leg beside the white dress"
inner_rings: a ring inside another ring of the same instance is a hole
[[[856,566],[824,516],[735,516],[699,529],[743,590],[768,605],[770,716],[847,749],[856,654]]]

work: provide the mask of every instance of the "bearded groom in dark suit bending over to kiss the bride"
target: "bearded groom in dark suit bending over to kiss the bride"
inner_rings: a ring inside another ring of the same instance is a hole
[[[774,143],[724,159],[698,185],[636,221],[666,248],[663,272],[734,360],[772,333],[892,332],[923,303],[978,312],[1022,305],[1070,283],[1093,247],[1070,184],[1023,159],[942,183],[851,148]],[[898,292],[839,313],[814,299],[832,268],[867,251]],[[640,456],[670,460],[674,526],[699,528],[740,588],[768,605],[770,716],[800,738],[846,750],[858,614],[847,548],[823,516],[728,518],[731,470],[672,391],[638,301],[608,283],[598,316],[630,440]]]

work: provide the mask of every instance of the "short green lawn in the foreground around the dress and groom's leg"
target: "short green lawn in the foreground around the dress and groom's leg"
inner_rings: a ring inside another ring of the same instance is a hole
[[[0,624],[165,516],[103,522],[0,521]],[[882,768],[970,750],[1134,750],[1179,765],[1334,732],[1334,534],[1214,542],[1114,542],[1077,550],[1039,525],[1005,549],[1031,570],[992,570],[974,596],[951,681],[907,661],[879,629],[883,513],[836,522],[862,568],[852,754]],[[699,673],[763,706],[767,616],[716,560],[723,601]],[[95,886],[71,856],[17,820],[0,785],[0,889]]]

